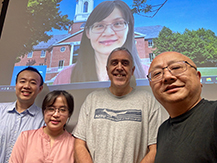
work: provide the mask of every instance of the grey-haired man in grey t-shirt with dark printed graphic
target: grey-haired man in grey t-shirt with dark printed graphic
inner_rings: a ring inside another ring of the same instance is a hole
[[[149,93],[130,86],[133,57],[116,48],[108,57],[109,88],[88,95],[75,136],[76,162],[154,162],[161,110]]]

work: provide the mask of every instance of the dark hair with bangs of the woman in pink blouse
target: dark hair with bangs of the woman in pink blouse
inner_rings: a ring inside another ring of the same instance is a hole
[[[66,103],[67,103],[68,110],[69,110],[69,118],[70,118],[74,111],[74,99],[71,94],[69,94],[68,92],[64,90],[54,90],[52,92],[49,92],[43,100],[42,112],[44,114],[46,107],[52,106],[55,103],[57,97],[59,96],[63,96],[66,99]]]

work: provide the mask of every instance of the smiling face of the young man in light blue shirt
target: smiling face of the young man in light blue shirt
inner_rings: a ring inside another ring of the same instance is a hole
[[[29,70],[21,72],[15,86],[17,103],[31,106],[43,88],[40,83],[41,77],[36,72]]]

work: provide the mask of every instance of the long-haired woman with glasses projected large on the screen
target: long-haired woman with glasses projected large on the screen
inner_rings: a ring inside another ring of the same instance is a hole
[[[135,78],[146,78],[134,39],[134,17],[120,0],[100,3],[87,19],[76,64],[62,70],[53,84],[107,81],[106,61],[110,52],[126,47],[134,57]]]

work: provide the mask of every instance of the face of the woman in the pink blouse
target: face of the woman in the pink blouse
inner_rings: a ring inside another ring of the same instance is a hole
[[[52,108],[64,108],[64,112],[55,110],[53,114],[49,110],[45,109],[44,111],[44,121],[46,123],[45,131],[47,133],[62,133],[63,127],[69,118],[69,111],[66,99],[64,96],[58,96],[52,106]]]

